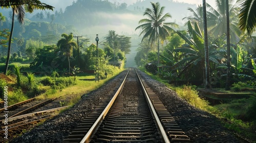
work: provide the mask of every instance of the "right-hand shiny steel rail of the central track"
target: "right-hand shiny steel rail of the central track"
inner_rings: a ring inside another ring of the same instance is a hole
[[[136,69],[135,69],[135,71],[136,71],[137,77],[139,79],[139,82],[141,84],[142,90],[143,90],[143,92],[145,94],[146,101],[147,101],[148,105],[150,106],[150,110],[152,112],[152,115],[153,115],[153,117],[156,120],[156,124],[157,124],[158,130],[159,130],[159,133],[160,133],[163,141],[166,142],[166,143],[169,143],[170,142],[169,138],[168,138],[168,136],[165,133],[165,130],[164,130],[163,126],[162,126],[162,123],[161,123],[161,121],[160,121],[160,119],[159,119],[159,117],[157,115],[157,112],[155,111],[154,105],[152,104],[152,102],[150,100],[150,97],[148,96],[147,91],[146,91],[146,89],[144,87],[144,84],[142,83],[141,78],[140,78],[140,76],[139,76],[139,74],[138,74]]]

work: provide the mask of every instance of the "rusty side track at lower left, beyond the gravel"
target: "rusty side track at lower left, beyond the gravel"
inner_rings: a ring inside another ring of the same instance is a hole
[[[4,133],[6,132],[6,127],[8,127],[8,137],[12,138],[24,130],[30,130],[36,124],[57,115],[56,111],[60,111],[61,109],[68,107],[66,106],[54,109],[52,107],[47,107],[47,105],[54,100],[55,98],[48,100],[36,100],[33,98],[11,105],[7,110],[5,108],[1,108],[0,122],[2,129],[0,130],[0,141],[4,140],[3,138],[5,136]],[[5,113],[8,113],[8,118],[5,118]]]

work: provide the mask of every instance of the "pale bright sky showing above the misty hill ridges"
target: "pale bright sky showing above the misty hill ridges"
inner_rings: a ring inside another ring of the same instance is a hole
[[[60,9],[64,11],[67,6],[72,5],[72,3],[75,0],[41,0],[40,2],[51,5],[55,7],[55,9]],[[136,3],[137,0],[109,0],[110,2],[116,2],[116,3],[126,3],[127,5],[132,5],[133,3]],[[166,0],[167,1],[167,0]],[[188,4],[196,4],[196,5],[202,5],[202,0],[173,0],[174,2],[184,2]],[[76,1],[75,1],[76,2]],[[206,0],[206,3],[211,5],[212,7],[215,6],[215,1]]]

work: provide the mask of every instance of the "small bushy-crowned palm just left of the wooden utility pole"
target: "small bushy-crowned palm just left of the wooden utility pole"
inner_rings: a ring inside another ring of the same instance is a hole
[[[66,33],[61,34],[60,40],[57,42],[57,46],[60,48],[62,53],[65,53],[65,55],[69,58],[71,57],[73,53],[73,47],[77,47],[77,43],[75,41],[72,41],[73,34],[70,33],[67,35]],[[69,75],[70,75],[70,61],[69,61]]]

